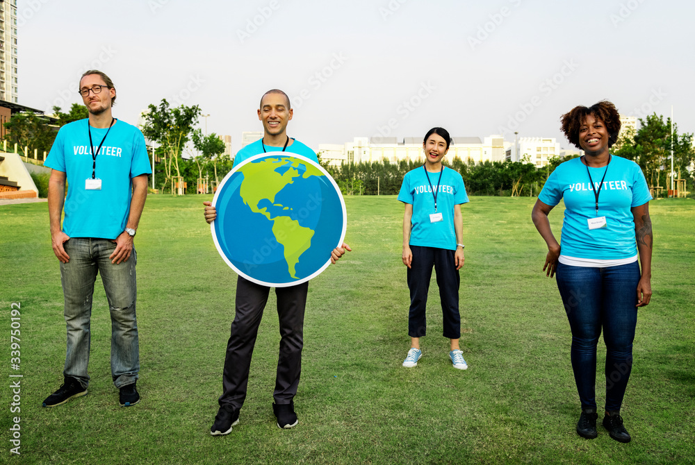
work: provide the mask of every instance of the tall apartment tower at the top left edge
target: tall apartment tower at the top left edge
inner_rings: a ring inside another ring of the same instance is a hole
[[[17,0],[0,0],[0,100],[17,103]]]

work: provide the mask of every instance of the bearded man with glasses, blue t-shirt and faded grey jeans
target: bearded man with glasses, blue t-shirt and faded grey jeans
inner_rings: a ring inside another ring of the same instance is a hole
[[[120,405],[128,407],[140,400],[133,237],[152,171],[140,130],[111,116],[116,99],[111,79],[101,71],[86,71],[79,94],[89,118],[60,128],[44,163],[53,169],[48,207],[65,296],[67,355],[65,382],[43,406],[87,394],[92,294],[101,274],[111,312],[111,375]]]

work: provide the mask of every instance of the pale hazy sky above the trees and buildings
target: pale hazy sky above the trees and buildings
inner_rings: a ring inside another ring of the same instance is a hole
[[[313,149],[353,137],[557,137],[575,105],[671,114],[695,131],[695,4],[621,0],[18,0],[19,103],[63,110],[82,71],[115,83],[136,124],[162,98],[208,132],[262,130],[261,95],[295,109]],[[200,120],[204,128],[205,119]]]

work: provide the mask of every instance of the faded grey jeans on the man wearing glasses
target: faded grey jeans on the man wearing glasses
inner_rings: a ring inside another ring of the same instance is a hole
[[[90,353],[92,295],[97,273],[101,273],[111,312],[113,384],[118,388],[133,384],[140,371],[138,323],[135,312],[135,248],[128,261],[113,264],[108,256],[113,253],[116,244],[109,239],[72,237],[63,246],[70,256],[67,263],[60,263],[67,323],[67,354],[63,375],[77,378],[83,387],[89,384],[87,365]]]

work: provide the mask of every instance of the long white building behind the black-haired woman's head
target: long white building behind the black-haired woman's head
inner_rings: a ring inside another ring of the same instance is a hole
[[[448,160],[460,158],[464,162],[503,161],[507,145],[509,142],[505,142],[501,135],[491,135],[482,141],[480,137],[452,137],[446,156]],[[422,137],[404,137],[400,142],[396,137],[355,137],[345,144],[319,144],[318,151],[322,161],[334,166],[343,162],[425,160]]]

